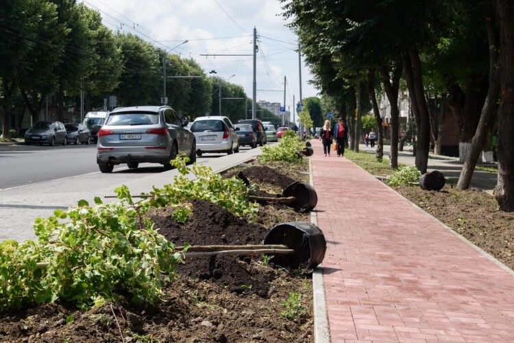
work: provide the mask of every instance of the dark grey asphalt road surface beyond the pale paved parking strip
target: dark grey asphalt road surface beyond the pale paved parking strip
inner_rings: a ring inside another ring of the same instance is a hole
[[[245,147],[241,148],[243,152]],[[96,163],[96,145],[11,145],[0,147],[0,190],[38,182],[99,173]],[[204,154],[198,162],[208,161],[225,154]],[[127,165],[117,165],[114,172],[127,170]],[[141,175],[163,171],[153,163],[141,163],[132,173]]]

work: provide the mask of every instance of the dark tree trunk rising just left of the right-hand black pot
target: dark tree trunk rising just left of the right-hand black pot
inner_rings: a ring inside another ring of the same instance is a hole
[[[416,117],[417,148],[415,165],[421,171],[421,174],[425,174],[428,165],[428,150],[430,149],[430,115],[425,99],[421,61],[417,49],[410,49],[408,55],[404,58],[404,62],[405,79],[409,94],[412,93],[413,95],[411,100]]]

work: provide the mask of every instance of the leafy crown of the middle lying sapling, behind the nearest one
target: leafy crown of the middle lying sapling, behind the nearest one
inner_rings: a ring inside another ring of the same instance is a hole
[[[153,197],[149,199],[149,206],[176,206],[199,199],[224,207],[238,217],[247,217],[249,220],[255,218],[258,204],[248,202],[248,192],[251,189],[246,187],[242,180],[234,177],[222,178],[206,165],[193,164],[188,167],[187,161],[187,158],[176,158],[171,161],[171,165],[178,169],[180,176],[175,176],[173,182],[163,188],[154,187],[150,192]],[[187,174],[193,174],[196,180],[187,178]]]

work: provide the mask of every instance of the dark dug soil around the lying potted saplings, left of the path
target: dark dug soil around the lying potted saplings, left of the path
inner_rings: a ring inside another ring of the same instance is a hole
[[[273,176],[262,181],[260,173],[250,172],[259,189],[308,180],[302,174],[306,164],[286,168],[286,176],[268,169],[252,169]],[[309,220],[308,214],[271,204],[260,206],[254,222],[210,202],[192,204],[185,224],[171,220],[169,208],[150,213],[177,246],[260,244],[276,224]],[[122,298],[88,311],[57,303],[3,314],[0,342],[313,342],[310,274],[271,268],[261,256],[188,259],[163,292],[162,303],[145,309]],[[282,303],[291,292],[300,295],[301,307],[288,319]]]

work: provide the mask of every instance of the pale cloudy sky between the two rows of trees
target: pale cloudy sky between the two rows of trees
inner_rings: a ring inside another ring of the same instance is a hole
[[[286,27],[278,0],[79,1],[99,10],[103,23],[114,31],[121,29],[137,34],[157,47],[194,58],[207,73],[215,70],[218,76],[241,84],[250,98],[252,56],[206,57],[200,54],[252,54],[252,34],[256,27],[257,101],[283,104],[286,76],[286,106],[291,106],[291,113],[293,95],[298,102],[297,36]],[[180,45],[184,40],[188,43]],[[317,95],[317,90],[308,84],[310,78],[302,57],[304,98]]]

